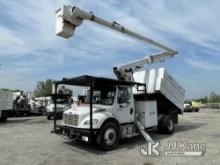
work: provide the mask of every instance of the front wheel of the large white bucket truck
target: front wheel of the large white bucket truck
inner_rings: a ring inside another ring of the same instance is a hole
[[[120,140],[120,128],[115,122],[108,121],[100,129],[97,144],[102,150],[113,150]]]

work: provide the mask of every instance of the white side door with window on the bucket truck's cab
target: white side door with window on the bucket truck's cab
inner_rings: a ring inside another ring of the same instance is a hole
[[[120,123],[134,122],[134,98],[130,87],[117,87],[116,117]]]

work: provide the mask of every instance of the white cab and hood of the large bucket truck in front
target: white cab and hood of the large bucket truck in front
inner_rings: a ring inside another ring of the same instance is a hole
[[[85,104],[64,112],[63,125],[81,129],[90,128],[89,91],[87,93]],[[108,118],[115,118],[120,124],[134,122],[134,98],[130,86],[94,89],[92,104],[94,129],[100,129]]]

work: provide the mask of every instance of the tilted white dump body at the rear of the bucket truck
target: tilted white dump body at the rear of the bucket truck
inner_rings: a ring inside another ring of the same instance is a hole
[[[136,98],[155,99],[158,102],[170,104],[167,107],[175,107],[180,113],[183,112],[185,90],[164,68],[137,71],[133,76],[135,82],[146,84],[146,94],[144,87],[140,87],[142,89],[139,88],[139,90],[133,88]]]

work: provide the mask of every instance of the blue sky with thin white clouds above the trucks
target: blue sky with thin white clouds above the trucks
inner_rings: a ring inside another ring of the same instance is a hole
[[[84,21],[75,35],[55,35],[62,4],[93,11],[178,51],[163,63],[186,98],[220,94],[219,0],[0,0],[0,88],[31,91],[37,81],[83,74],[114,78],[112,68],[160,51]]]

